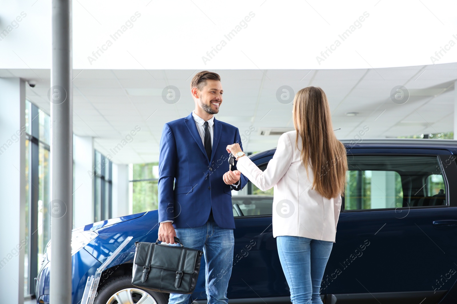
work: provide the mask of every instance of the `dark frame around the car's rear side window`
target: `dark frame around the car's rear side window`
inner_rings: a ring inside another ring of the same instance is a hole
[[[447,151],[447,150],[446,150]],[[348,153],[346,153],[348,155]],[[410,209],[428,209],[428,208],[447,208],[451,207],[451,196],[450,196],[450,187],[449,187],[449,181],[446,175],[446,170],[443,168],[442,165],[442,157],[447,157],[449,158],[452,156],[452,154],[449,155],[443,155],[443,154],[423,154],[423,153],[351,153],[351,156],[434,156],[436,157],[436,160],[438,160],[437,164],[440,166],[440,170],[443,175],[443,181],[445,185],[445,194],[446,194],[446,205],[441,205],[441,206],[407,206],[407,207],[396,207],[396,208],[377,208],[377,209],[355,209],[355,210],[346,210],[345,209],[345,197],[342,196],[341,199],[341,210],[340,212],[345,212],[345,213],[350,213],[350,212],[366,212],[366,211],[396,211],[396,210],[410,210]],[[451,164],[448,166],[450,167],[452,163],[455,164],[455,160],[451,161]],[[455,167],[455,165],[453,166]],[[457,168],[454,168],[457,171]],[[454,174],[455,175],[455,174]],[[400,175],[401,176],[401,175]]]

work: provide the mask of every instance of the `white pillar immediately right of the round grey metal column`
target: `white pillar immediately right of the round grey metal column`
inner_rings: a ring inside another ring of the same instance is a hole
[[[94,222],[94,141],[74,135],[74,226]]]

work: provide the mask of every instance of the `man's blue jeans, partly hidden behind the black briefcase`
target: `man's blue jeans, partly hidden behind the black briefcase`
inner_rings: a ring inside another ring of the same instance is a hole
[[[201,227],[176,228],[175,231],[176,237],[185,247],[203,250],[205,254],[208,304],[227,304],[228,279],[232,274],[235,243],[233,229],[220,228],[214,222],[213,216],[210,216],[208,222]],[[170,294],[168,304],[187,304],[190,296]]]

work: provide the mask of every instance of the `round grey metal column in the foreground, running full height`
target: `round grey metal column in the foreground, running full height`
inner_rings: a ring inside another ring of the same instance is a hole
[[[71,303],[73,98],[71,0],[52,1],[50,303]]]

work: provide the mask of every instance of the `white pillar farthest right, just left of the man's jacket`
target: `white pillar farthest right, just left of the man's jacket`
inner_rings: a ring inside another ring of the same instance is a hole
[[[112,217],[129,214],[128,165],[112,164]]]

